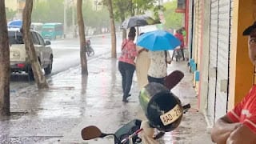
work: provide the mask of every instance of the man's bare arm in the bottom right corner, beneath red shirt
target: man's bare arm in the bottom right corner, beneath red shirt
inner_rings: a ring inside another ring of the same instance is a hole
[[[251,144],[256,143],[256,134],[248,126],[241,125],[231,132],[226,144]]]

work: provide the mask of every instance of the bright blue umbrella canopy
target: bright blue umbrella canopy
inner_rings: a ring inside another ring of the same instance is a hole
[[[139,36],[137,45],[151,51],[174,50],[181,42],[166,30],[154,30]]]

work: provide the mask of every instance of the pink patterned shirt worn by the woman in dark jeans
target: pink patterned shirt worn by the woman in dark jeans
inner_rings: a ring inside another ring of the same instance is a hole
[[[130,63],[135,65],[134,59],[138,55],[134,41],[124,39],[122,42],[122,54],[119,57],[120,62]]]

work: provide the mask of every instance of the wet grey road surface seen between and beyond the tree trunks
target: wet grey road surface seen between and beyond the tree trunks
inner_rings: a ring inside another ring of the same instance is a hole
[[[122,34],[117,33],[117,45],[120,46]],[[87,57],[87,60],[97,58],[102,54],[110,53],[110,34],[98,34],[87,36],[90,39],[91,46],[95,51],[93,56]],[[56,39],[51,41],[51,48],[54,54],[53,70],[47,78],[51,78],[54,74],[69,70],[70,67],[80,64],[80,44],[79,38]],[[43,70],[42,70],[43,71]],[[26,73],[13,73],[10,77],[10,89],[16,91],[19,88],[34,85],[34,82],[28,78]]]

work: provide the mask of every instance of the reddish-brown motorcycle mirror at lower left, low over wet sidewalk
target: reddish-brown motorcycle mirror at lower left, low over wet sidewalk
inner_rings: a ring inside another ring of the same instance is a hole
[[[83,140],[90,140],[102,136],[102,131],[97,126],[87,126],[81,131]]]

